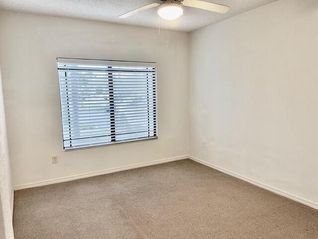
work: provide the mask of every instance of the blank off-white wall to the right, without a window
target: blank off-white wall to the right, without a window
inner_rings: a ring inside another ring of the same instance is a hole
[[[191,156],[318,205],[317,23],[280,0],[191,33]]]

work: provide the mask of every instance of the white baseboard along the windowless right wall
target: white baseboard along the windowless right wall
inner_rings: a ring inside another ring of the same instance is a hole
[[[196,162],[198,162],[198,163],[201,163],[201,164],[203,164],[203,165],[205,165],[205,166],[208,166],[208,167],[210,167],[210,168],[213,168],[213,169],[216,169],[216,170],[218,170],[218,171],[220,171],[220,172],[223,172],[223,173],[225,173],[225,174],[228,174],[228,175],[230,175],[230,176],[239,178],[239,179],[241,179],[241,180],[243,180],[243,181],[245,181],[245,182],[248,182],[248,183],[250,183],[250,184],[253,184],[253,185],[257,186],[257,187],[260,187],[260,188],[263,188],[263,189],[265,189],[265,190],[271,191],[271,192],[273,192],[273,193],[275,193],[275,194],[278,194],[278,195],[280,195],[280,196],[283,196],[283,197],[285,197],[285,198],[294,200],[294,201],[296,201],[296,202],[299,202],[299,203],[301,203],[301,204],[307,205],[307,206],[309,206],[309,207],[311,207],[311,208],[314,208],[314,209],[318,210],[318,204],[315,203],[315,202],[312,202],[312,201],[309,201],[309,200],[307,200],[307,199],[304,199],[304,198],[301,198],[301,197],[299,197],[299,196],[296,196],[296,195],[294,195],[294,194],[291,194],[291,193],[282,191],[282,190],[280,190],[280,189],[271,187],[271,186],[269,186],[269,185],[266,185],[266,184],[264,184],[264,183],[258,182],[258,181],[256,181],[256,180],[253,180],[253,179],[250,179],[250,178],[241,176],[241,175],[239,175],[239,174],[237,174],[237,173],[234,173],[234,172],[229,171],[229,170],[227,170],[227,169],[225,169],[225,168],[221,168],[221,167],[219,167],[219,166],[213,165],[213,164],[208,163],[208,162],[206,162],[206,161],[204,161],[204,160],[201,160],[201,159],[198,159],[198,158],[195,158],[195,157],[192,157],[192,156],[188,156],[188,158],[191,159],[191,160],[193,160],[193,161],[196,161]]]

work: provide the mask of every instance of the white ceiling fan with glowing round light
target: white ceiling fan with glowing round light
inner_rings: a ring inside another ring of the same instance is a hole
[[[135,10],[119,15],[118,17],[126,18],[135,15],[138,12],[157,6],[159,6],[159,16],[166,20],[174,20],[180,17],[183,14],[183,6],[190,6],[218,13],[226,13],[230,9],[229,6],[200,0],[159,0],[157,3],[151,3],[146,6],[139,7]]]

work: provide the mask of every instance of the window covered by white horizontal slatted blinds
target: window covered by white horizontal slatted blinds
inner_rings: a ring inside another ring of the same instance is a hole
[[[156,64],[58,58],[64,149],[157,138]]]

